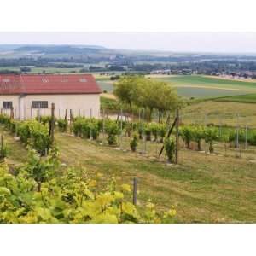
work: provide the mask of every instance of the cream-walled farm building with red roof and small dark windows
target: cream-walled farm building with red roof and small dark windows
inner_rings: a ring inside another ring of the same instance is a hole
[[[15,119],[48,115],[55,103],[55,116],[98,117],[102,90],[90,74],[0,74],[0,108],[13,109]]]

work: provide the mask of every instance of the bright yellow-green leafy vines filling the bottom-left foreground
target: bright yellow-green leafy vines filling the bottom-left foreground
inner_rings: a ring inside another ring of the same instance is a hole
[[[112,179],[102,189],[98,185],[102,183],[100,175],[88,177],[74,168],[65,170],[58,177],[52,175],[56,170],[55,160],[31,157],[17,175],[10,174],[7,166],[0,165],[0,223],[157,224],[174,221],[174,207],[159,213],[153,203],[147,203],[146,207],[134,206],[128,201],[131,198],[128,184],[117,189]]]

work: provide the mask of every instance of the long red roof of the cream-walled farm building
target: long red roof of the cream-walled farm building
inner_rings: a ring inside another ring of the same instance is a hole
[[[101,92],[96,80],[90,74],[0,74],[0,95]]]

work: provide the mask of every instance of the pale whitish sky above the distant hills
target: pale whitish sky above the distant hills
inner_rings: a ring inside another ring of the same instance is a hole
[[[0,32],[0,44],[93,44],[111,49],[256,53],[256,32]]]

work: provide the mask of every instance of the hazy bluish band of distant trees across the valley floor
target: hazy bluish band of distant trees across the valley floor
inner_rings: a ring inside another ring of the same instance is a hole
[[[100,63],[106,62],[104,66]],[[143,62],[143,63],[142,63]],[[84,64],[90,65],[87,69]],[[0,59],[0,67],[81,67],[81,72],[142,72],[166,71],[169,73],[244,73],[256,72],[254,56],[219,55],[79,55],[74,57],[20,57]]]

